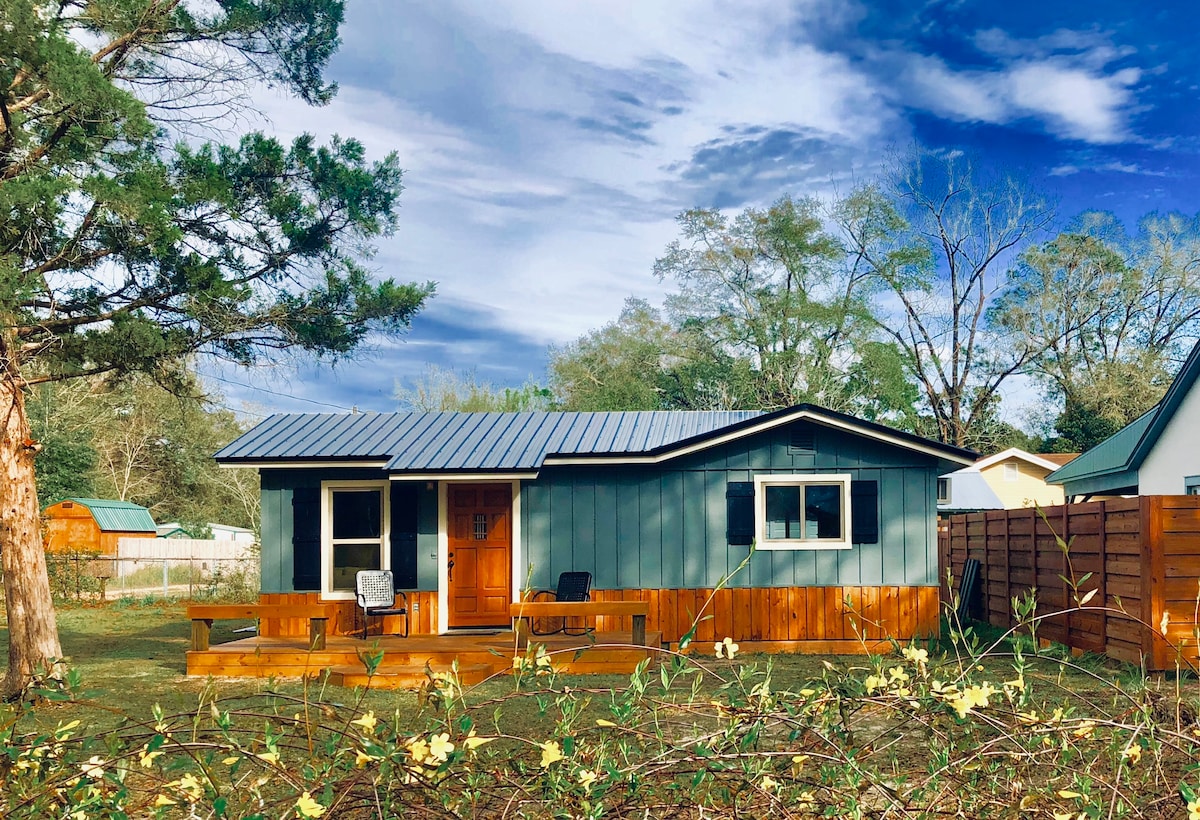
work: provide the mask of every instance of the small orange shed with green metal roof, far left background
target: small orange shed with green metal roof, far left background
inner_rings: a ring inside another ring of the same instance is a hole
[[[121,538],[154,538],[150,510],[127,501],[67,498],[42,510],[47,552],[116,555]]]

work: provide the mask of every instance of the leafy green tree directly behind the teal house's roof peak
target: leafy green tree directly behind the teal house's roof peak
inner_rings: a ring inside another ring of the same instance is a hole
[[[823,220],[817,200],[791,197],[733,219],[685,211],[682,238],[654,265],[660,280],[679,285],[667,315],[709,360],[740,365],[745,405],[894,414],[905,390],[878,390],[904,377],[900,359],[876,339],[872,271],[844,264],[845,249]]]

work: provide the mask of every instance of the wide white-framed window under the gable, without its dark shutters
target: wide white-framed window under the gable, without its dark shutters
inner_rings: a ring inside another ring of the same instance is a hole
[[[848,474],[756,475],[755,543],[761,550],[848,550]]]

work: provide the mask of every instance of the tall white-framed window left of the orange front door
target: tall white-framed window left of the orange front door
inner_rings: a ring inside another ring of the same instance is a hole
[[[354,599],[360,569],[390,569],[388,481],[324,481],[320,505],[320,589]]]

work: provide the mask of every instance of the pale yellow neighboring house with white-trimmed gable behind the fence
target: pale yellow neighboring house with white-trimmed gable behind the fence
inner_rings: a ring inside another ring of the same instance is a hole
[[[1075,455],[1034,455],[1013,447],[982,459],[937,479],[937,511],[950,515],[1061,504],[1062,487],[1046,484],[1045,479]]]

